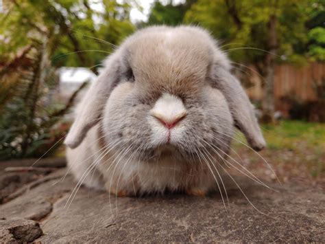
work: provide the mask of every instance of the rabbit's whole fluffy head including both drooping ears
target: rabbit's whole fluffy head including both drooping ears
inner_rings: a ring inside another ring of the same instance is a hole
[[[252,148],[265,146],[228,59],[198,27],[149,27],[126,39],[86,93],[65,144],[76,148],[97,123],[107,145],[147,161],[226,152],[234,125]]]

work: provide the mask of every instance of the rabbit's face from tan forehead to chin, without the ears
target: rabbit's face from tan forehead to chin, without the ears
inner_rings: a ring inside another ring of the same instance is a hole
[[[227,151],[232,117],[206,79],[206,45],[187,35],[180,41],[166,33],[164,42],[149,37],[136,38],[126,51],[129,76],[112,91],[101,124],[107,143],[119,142],[118,151],[128,148],[125,155],[145,161],[170,155],[189,161],[200,150]]]

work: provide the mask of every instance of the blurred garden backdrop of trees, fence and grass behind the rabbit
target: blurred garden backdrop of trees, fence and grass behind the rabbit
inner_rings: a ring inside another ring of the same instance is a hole
[[[163,24],[200,25],[219,41],[281,181],[324,184],[324,0],[0,0],[0,159],[64,157],[73,105],[101,61],[136,30]],[[274,180],[237,137],[242,164]]]

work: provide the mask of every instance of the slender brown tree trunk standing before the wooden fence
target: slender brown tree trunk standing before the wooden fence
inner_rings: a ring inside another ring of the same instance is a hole
[[[274,73],[275,73],[275,61],[276,50],[278,46],[277,33],[276,33],[277,18],[275,14],[272,14],[269,18],[268,30],[268,53],[265,56],[265,84],[263,86],[263,101],[262,109],[263,116],[262,122],[274,123]]]

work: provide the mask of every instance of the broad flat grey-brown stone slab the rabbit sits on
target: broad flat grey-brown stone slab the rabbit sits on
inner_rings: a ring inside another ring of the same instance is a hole
[[[325,193],[317,186],[271,184],[276,192],[237,178],[261,214],[236,189],[228,191],[228,212],[217,193],[204,198],[167,195],[109,199],[107,192],[81,187],[71,202],[68,199],[76,182],[65,174],[65,169],[57,170],[0,206],[1,231],[7,233],[0,235],[0,242],[9,240],[12,218],[17,217],[40,224],[43,235],[34,241],[42,243],[325,240]]]

